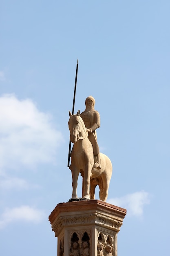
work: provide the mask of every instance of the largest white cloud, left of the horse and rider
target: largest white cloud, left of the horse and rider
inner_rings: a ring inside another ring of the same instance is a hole
[[[0,124],[1,169],[55,162],[62,134],[53,127],[51,115],[40,112],[31,99],[0,97]]]

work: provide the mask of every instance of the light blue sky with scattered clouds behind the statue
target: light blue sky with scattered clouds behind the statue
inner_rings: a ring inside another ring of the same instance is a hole
[[[127,209],[118,255],[169,252],[169,13],[168,0],[0,1],[3,256],[57,255],[48,216],[72,193],[77,58],[75,112],[93,95],[113,164],[107,202]]]

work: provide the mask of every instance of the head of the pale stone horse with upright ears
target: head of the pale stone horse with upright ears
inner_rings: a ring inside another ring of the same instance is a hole
[[[80,139],[79,135],[83,136],[84,134],[86,134],[86,137],[87,137],[86,127],[84,125],[82,117],[80,117],[79,110],[76,115],[72,115],[71,112],[69,111],[69,115],[70,115],[70,119],[68,121],[68,128],[70,130],[70,140],[72,143],[76,143],[77,140]]]

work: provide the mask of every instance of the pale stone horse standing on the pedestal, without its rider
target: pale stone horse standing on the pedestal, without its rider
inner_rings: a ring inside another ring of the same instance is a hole
[[[69,115],[70,140],[74,144],[71,151],[71,165],[69,166],[73,180],[71,200],[77,199],[77,180],[79,173],[81,173],[83,177],[82,199],[95,199],[95,187],[99,185],[99,198],[106,202],[112,175],[112,163],[106,155],[100,153],[101,169],[93,168],[93,147],[88,139],[88,132],[83,119],[80,117],[80,112],[78,110],[76,115],[72,115],[69,111]]]

